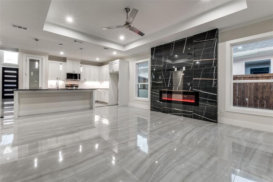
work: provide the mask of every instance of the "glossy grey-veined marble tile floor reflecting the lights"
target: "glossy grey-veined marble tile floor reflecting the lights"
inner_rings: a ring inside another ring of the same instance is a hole
[[[10,120],[0,119],[1,182],[273,181],[268,132],[131,106]]]

